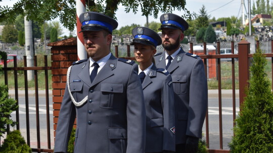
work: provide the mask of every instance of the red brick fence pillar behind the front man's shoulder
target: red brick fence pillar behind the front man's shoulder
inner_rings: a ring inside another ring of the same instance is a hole
[[[49,43],[51,46],[52,60],[52,95],[53,95],[53,125],[54,136],[61,103],[66,86],[66,74],[68,67],[77,60],[77,39],[69,38],[63,41]]]

